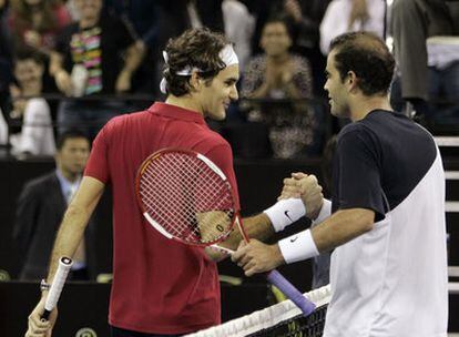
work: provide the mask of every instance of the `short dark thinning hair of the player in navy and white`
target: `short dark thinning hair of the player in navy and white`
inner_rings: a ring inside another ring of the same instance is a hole
[[[395,61],[389,49],[374,33],[350,32],[335,38],[335,67],[341,80],[349,71],[358,78],[358,86],[366,95],[386,94],[394,75]]]

